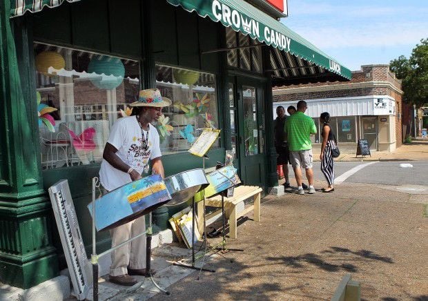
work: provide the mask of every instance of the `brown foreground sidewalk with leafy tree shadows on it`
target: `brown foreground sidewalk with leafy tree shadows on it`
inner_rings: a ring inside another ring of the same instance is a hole
[[[153,300],[329,300],[346,273],[364,300],[428,300],[428,187],[402,190],[341,184],[265,197],[262,221],[246,220],[228,240],[244,252],[222,254],[216,273],[193,273]]]

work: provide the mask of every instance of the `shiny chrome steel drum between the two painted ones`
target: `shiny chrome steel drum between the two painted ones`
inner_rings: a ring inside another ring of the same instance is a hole
[[[171,177],[166,177],[164,182],[172,198],[170,202],[165,204],[166,206],[175,206],[186,202],[209,184],[202,168],[171,175]]]

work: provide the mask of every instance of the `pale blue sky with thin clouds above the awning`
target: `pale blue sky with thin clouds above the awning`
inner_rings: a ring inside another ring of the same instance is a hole
[[[428,38],[428,0],[288,0],[281,19],[342,66],[389,64]]]

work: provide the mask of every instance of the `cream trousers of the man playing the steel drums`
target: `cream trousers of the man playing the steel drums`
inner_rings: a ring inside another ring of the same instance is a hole
[[[121,242],[129,240],[144,231],[146,231],[146,219],[144,216],[138,217],[136,220],[110,230],[112,237],[111,245],[117,246]],[[111,253],[110,275],[118,276],[127,274],[128,266],[130,269],[146,268],[146,235],[128,242],[128,244],[115,249]]]

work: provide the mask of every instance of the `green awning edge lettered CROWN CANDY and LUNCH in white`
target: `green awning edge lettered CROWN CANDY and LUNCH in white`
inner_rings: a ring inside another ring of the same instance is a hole
[[[312,43],[300,37],[280,21],[258,10],[243,0],[166,0],[173,6],[182,6],[188,12],[220,21],[226,27],[249,35],[262,43],[289,52],[346,79],[351,70],[326,55]],[[314,28],[314,30],[316,30]]]

